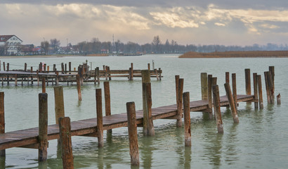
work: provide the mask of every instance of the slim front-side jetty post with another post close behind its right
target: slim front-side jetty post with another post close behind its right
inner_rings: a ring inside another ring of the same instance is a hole
[[[96,113],[97,113],[97,134],[98,147],[104,146],[103,140],[103,115],[102,115],[102,93],[101,89],[96,89]]]

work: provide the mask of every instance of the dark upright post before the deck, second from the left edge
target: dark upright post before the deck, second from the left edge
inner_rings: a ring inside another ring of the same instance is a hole
[[[39,148],[38,148],[38,161],[47,160],[47,147],[48,147],[48,95],[46,93],[39,94]]]

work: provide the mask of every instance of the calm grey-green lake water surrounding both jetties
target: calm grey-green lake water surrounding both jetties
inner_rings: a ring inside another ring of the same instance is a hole
[[[192,147],[185,148],[183,127],[176,128],[176,120],[155,120],[155,137],[143,137],[138,128],[140,168],[287,168],[288,166],[288,58],[177,58],[176,55],[138,57],[67,57],[67,58],[1,58],[10,63],[11,69],[28,67],[39,62],[47,65],[72,62],[77,67],[88,60],[92,67],[146,69],[155,61],[162,68],[162,81],[152,80],[152,107],[176,103],[174,76],[184,78],[184,92],[190,92],[190,100],[201,98],[200,73],[218,77],[221,95],[225,94],[225,72],[237,73],[237,93],[244,94],[244,68],[262,75],[269,65],[275,66],[275,94],[281,93],[282,105],[268,105],[263,85],[264,109],[254,110],[254,104],[241,103],[238,107],[240,123],[233,124],[230,110],[221,108],[224,134],[217,134],[216,122],[201,112],[191,113]],[[262,81],[262,84],[265,84]],[[35,84],[34,84],[35,85]],[[64,87],[65,115],[71,120],[96,117],[95,89],[100,85],[85,84],[83,101],[78,101],[76,85]],[[6,132],[22,130],[38,125],[38,94],[41,87],[0,87],[5,92]],[[55,123],[53,87],[48,93],[48,124]],[[126,79],[110,81],[112,113],[126,111],[126,102],[135,101],[136,109],[142,107],[141,81]],[[104,110],[103,110],[104,113]],[[97,138],[72,137],[75,168],[131,168],[127,128],[113,130],[105,135],[105,146],[97,147]],[[0,168],[62,168],[62,161],[55,140],[49,142],[47,163],[38,163],[36,149],[6,149],[6,159],[1,158]]]

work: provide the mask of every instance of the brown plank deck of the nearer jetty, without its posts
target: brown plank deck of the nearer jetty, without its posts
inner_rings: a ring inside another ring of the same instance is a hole
[[[226,106],[229,104],[227,96],[221,96],[220,100],[221,106]],[[237,102],[253,100],[253,95],[237,95]],[[207,108],[207,100],[190,101],[190,111],[205,111]],[[152,108],[152,118],[153,120],[173,118],[176,115],[176,109],[176,104]],[[141,125],[143,123],[143,111],[136,111],[136,118],[136,123],[138,125]],[[126,126],[128,126],[126,113],[103,116],[103,130]],[[86,120],[72,122],[71,134],[72,136],[89,134],[89,136],[97,137],[97,118],[90,118]],[[48,125],[48,140],[58,138],[58,125]],[[37,143],[38,127],[0,134],[0,150],[18,146],[28,146]]]

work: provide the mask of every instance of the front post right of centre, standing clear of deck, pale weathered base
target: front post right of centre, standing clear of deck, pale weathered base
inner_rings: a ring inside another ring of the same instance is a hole
[[[191,146],[191,123],[190,123],[190,95],[189,92],[183,93],[184,111],[184,136],[185,146]]]

